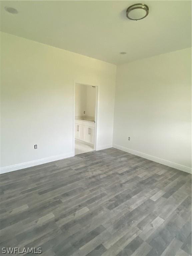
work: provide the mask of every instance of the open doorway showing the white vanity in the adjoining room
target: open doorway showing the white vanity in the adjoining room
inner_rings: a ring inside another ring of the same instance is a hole
[[[96,148],[97,87],[74,85],[74,155]]]

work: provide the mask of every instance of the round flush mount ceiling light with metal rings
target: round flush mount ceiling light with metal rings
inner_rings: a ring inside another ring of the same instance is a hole
[[[147,17],[149,7],[146,4],[133,4],[127,8],[127,18],[130,20],[141,20]]]

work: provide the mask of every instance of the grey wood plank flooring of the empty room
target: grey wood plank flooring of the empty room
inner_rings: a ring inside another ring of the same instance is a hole
[[[1,247],[191,255],[191,175],[114,148],[0,175]]]

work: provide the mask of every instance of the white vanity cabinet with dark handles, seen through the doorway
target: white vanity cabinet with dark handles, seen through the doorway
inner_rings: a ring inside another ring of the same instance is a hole
[[[75,121],[75,139],[82,140],[86,143],[95,142],[95,123],[91,121]]]

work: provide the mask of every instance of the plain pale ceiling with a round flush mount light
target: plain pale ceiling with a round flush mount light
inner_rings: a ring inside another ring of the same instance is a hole
[[[127,19],[137,2],[149,15]],[[191,47],[191,1],[137,2],[1,1],[1,31],[115,64]]]

